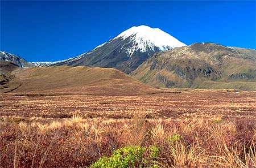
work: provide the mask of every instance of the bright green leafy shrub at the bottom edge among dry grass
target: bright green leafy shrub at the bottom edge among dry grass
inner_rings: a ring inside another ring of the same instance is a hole
[[[158,167],[158,155],[159,149],[155,146],[124,147],[115,150],[110,157],[101,157],[91,167]]]

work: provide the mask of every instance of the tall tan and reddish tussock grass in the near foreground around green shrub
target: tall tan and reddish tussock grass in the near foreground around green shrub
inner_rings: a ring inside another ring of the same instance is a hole
[[[134,146],[156,147],[159,167],[255,167],[256,121],[145,119],[142,114],[0,120],[0,167],[90,167]]]

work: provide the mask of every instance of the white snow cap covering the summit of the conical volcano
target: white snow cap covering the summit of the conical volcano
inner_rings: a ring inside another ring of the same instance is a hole
[[[131,38],[130,40],[134,41],[135,46],[129,51],[131,54],[135,50],[145,52],[147,47],[151,50],[154,50],[154,47],[157,47],[159,50],[164,51],[176,47],[186,46],[183,42],[180,42],[175,37],[172,37],[161,29],[151,28],[146,25],[131,27],[115,38],[119,37],[123,38],[123,40],[125,38]]]

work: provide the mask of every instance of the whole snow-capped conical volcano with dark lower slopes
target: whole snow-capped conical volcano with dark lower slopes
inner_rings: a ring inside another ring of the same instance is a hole
[[[60,61],[57,65],[89,66],[116,68],[127,74],[134,71],[142,62],[157,51],[171,50],[185,46],[159,28],[146,25],[131,27],[89,51],[67,61]]]

